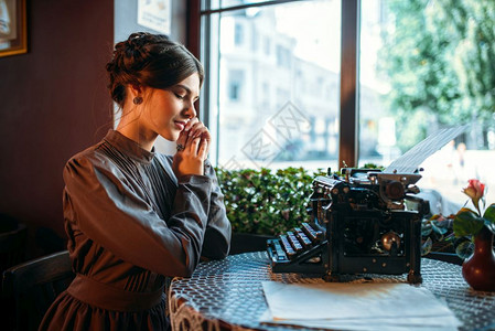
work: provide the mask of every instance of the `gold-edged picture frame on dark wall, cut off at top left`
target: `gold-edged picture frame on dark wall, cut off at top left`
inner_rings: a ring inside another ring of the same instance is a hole
[[[0,57],[26,52],[25,0],[0,0]]]

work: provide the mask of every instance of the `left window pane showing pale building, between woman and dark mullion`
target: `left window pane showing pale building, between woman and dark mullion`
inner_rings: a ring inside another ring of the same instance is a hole
[[[209,77],[206,105],[217,164],[335,169],[341,1],[294,1],[203,19],[209,20],[203,47],[209,73],[218,73]]]

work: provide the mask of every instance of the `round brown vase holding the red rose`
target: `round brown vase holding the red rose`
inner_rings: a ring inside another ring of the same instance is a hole
[[[495,291],[493,233],[484,226],[474,238],[474,253],[462,264],[465,281],[478,291]]]

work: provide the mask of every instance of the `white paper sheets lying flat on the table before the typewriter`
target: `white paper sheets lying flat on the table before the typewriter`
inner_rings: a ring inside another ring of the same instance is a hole
[[[309,321],[316,324],[330,321],[334,328],[461,324],[428,289],[408,284],[263,281],[262,287],[271,321],[291,320],[306,325]]]

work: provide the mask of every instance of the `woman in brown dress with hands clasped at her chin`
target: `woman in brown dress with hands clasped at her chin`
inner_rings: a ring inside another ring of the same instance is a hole
[[[122,116],[64,169],[64,217],[76,278],[40,330],[165,330],[165,277],[224,258],[230,224],[211,136],[194,103],[200,62],[164,35],[133,33],[107,64]],[[158,136],[177,152],[154,152]]]

